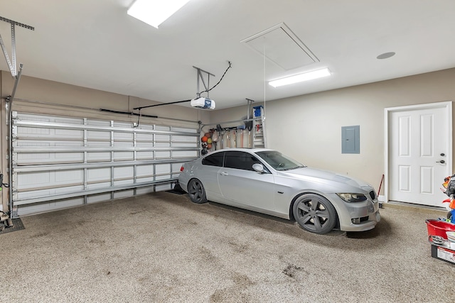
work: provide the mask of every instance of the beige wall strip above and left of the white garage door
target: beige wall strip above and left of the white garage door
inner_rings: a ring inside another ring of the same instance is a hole
[[[8,173],[8,127],[6,126],[5,113],[5,97],[11,95],[14,87],[14,78],[9,72],[0,72],[0,93],[1,93],[1,173],[4,174],[4,182],[9,183]],[[30,102],[16,101],[16,99],[28,99],[33,101],[45,102]],[[116,120],[137,122],[138,116],[129,116],[122,114],[110,114],[101,112],[99,109],[111,109],[115,111],[133,111],[134,107],[156,104],[156,101],[140,99],[137,97],[129,97],[122,94],[114,94],[102,92],[96,89],[87,89],[85,87],[77,87],[70,84],[37,79],[33,77],[21,77],[21,81],[16,89],[15,101],[13,110],[24,111],[38,114],[50,114],[61,116],[77,116],[87,117],[91,119]],[[58,106],[61,104],[63,106]],[[70,107],[69,107],[70,106]],[[197,121],[204,123],[210,122],[210,114],[202,109],[193,109],[185,106],[166,105],[157,106],[149,109],[141,110],[141,114],[159,116],[159,119],[149,119],[141,117],[139,123],[156,123],[173,126],[187,126],[197,128]],[[193,121],[193,122],[190,122]],[[1,194],[1,203],[3,209],[8,209],[8,194],[7,190],[3,190]],[[0,207],[1,209],[1,207]]]

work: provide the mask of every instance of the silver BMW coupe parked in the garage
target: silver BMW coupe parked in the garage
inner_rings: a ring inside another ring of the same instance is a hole
[[[194,203],[290,219],[306,231],[368,231],[380,221],[369,184],[302,165],[277,150],[229,148],[186,162],[178,177]]]

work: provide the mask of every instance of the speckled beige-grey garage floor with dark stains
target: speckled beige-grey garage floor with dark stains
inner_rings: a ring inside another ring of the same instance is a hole
[[[381,214],[319,236],[159,192],[26,216],[0,236],[1,301],[451,302],[455,265],[431,257],[425,224],[445,213]]]

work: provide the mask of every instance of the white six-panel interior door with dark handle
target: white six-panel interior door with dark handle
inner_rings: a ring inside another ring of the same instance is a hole
[[[451,175],[451,103],[395,108],[388,114],[389,199],[443,206]]]

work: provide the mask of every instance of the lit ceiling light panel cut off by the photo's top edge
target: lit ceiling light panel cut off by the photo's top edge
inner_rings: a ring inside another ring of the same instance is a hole
[[[136,0],[129,8],[129,16],[139,19],[155,28],[190,0]]]

